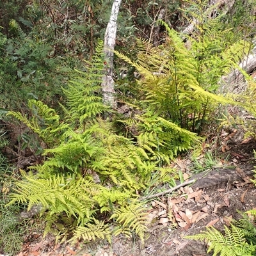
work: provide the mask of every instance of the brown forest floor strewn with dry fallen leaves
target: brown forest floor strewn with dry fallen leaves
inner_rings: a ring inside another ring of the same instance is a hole
[[[173,162],[173,168],[187,173],[189,180],[196,179],[196,182],[177,189],[171,195],[148,200],[150,225],[144,244],[140,239],[121,235],[113,237],[111,245],[106,241],[77,243],[75,246],[56,244],[51,235],[43,239],[43,229],[38,228],[26,237],[18,256],[207,255],[207,244],[184,237],[200,233],[205,226],[223,230],[224,225],[230,225],[230,220],[241,218],[237,211],[244,212],[256,207],[256,188],[250,181],[255,164],[253,150],[256,149],[256,141],[244,140],[243,132],[236,130],[223,132],[214,140],[221,141],[217,150],[220,161],[211,169],[193,175],[189,159],[179,158]],[[214,143],[211,145],[213,147]]]

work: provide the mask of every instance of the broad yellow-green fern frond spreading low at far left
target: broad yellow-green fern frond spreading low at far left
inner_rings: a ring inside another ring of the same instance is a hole
[[[15,202],[28,204],[29,210],[33,205],[42,204],[51,214],[65,212],[83,221],[85,216],[94,212],[95,200],[92,199],[92,193],[96,193],[93,190],[95,186],[97,184],[85,179],[76,180],[74,175],[51,175],[48,179],[27,175],[24,180],[17,182],[16,193],[10,195],[8,205]]]

